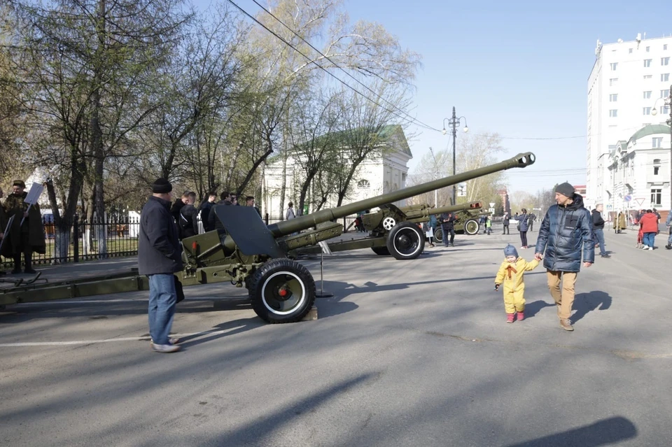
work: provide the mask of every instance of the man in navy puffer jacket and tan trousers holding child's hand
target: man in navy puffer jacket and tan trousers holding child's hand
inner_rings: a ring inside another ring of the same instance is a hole
[[[548,288],[558,308],[560,325],[566,331],[573,331],[569,316],[582,251],[584,267],[590,267],[595,260],[593,220],[583,206],[583,197],[576,194],[569,183],[555,188],[555,200],[557,205],[548,208],[541,222],[534,257],[541,260],[544,254]]]

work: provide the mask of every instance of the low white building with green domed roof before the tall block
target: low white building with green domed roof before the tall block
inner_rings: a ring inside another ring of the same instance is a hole
[[[670,209],[670,144],[670,127],[647,125],[610,145],[615,149],[598,159],[596,183],[605,192],[606,211]]]

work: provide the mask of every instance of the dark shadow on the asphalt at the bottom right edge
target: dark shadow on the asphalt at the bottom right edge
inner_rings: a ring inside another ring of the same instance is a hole
[[[549,436],[510,444],[508,447],[597,447],[616,444],[637,436],[637,427],[627,418],[616,416],[598,420],[591,425]]]

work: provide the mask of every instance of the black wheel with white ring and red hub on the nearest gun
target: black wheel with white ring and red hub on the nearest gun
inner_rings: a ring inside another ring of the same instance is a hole
[[[248,284],[252,308],[265,322],[300,321],[315,304],[313,276],[302,264],[284,257],[263,264]],[[282,286],[288,286],[283,289],[290,292],[287,298],[279,295]]]

